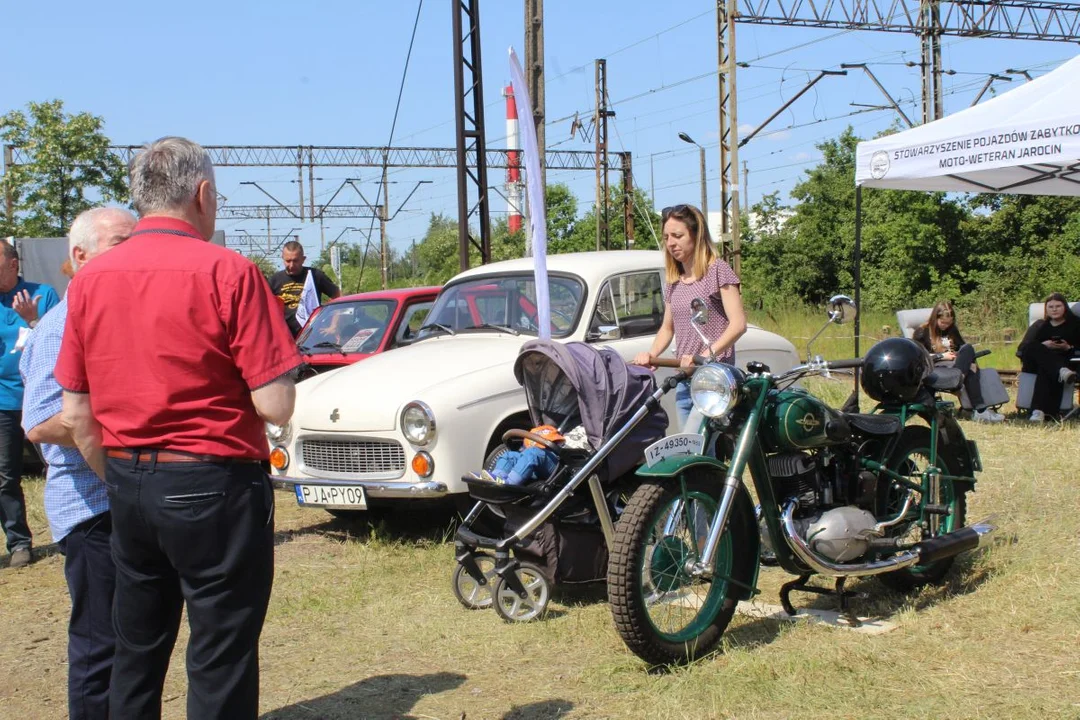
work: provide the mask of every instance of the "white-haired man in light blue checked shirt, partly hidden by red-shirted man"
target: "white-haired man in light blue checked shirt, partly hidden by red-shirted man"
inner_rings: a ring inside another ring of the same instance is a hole
[[[98,207],[82,213],[68,233],[72,270],[126,240],[134,227],[135,218],[127,210]],[[71,596],[68,715],[79,720],[107,720],[116,648],[112,596],[117,570],[109,549],[112,522],[105,484],[60,424],[64,391],[53,370],[66,321],[65,298],[41,318],[23,350],[18,362],[26,386],[23,426],[30,440],[41,444],[49,463],[45,516],[64,554],[64,575]]]

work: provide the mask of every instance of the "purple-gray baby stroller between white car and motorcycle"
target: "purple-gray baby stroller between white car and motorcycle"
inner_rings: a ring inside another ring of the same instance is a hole
[[[554,585],[604,580],[620,498],[633,491],[645,448],[665,435],[667,413],[649,370],[583,342],[531,340],[514,376],[535,425],[563,435],[580,425],[588,437],[585,447],[567,447],[510,430],[487,468],[530,438],[557,453],[555,470],[525,485],[462,478],[477,502],[455,539],[454,594],[467,608],[494,606],[503,620],[525,622],[544,613]],[[481,533],[488,513],[501,521],[500,536]]]

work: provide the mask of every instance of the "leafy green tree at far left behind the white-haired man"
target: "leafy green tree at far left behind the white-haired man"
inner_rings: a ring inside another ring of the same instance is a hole
[[[127,200],[126,168],[108,150],[102,118],[65,113],[58,99],[30,103],[27,110],[0,117],[0,140],[30,158],[3,177],[15,213],[3,218],[0,234],[64,235],[82,210]]]

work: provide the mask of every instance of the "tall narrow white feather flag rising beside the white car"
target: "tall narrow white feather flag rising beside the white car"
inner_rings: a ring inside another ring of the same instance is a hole
[[[510,80],[514,85],[514,104],[521,123],[522,150],[525,153],[525,192],[529,200],[529,230],[532,237],[534,275],[537,285],[537,324],[541,340],[551,340],[551,298],[548,296],[548,220],[543,204],[543,174],[540,172],[540,148],[532,120],[532,101],[525,84],[525,73],[514,49],[510,49]]]

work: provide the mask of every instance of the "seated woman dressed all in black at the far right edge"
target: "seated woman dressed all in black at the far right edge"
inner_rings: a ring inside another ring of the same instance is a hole
[[[1031,422],[1042,422],[1061,409],[1063,385],[1076,379],[1069,358],[1080,348],[1080,318],[1069,310],[1065,296],[1054,293],[1047,298],[1043,318],[1031,323],[1020,341],[1016,356],[1024,372],[1032,372]]]

